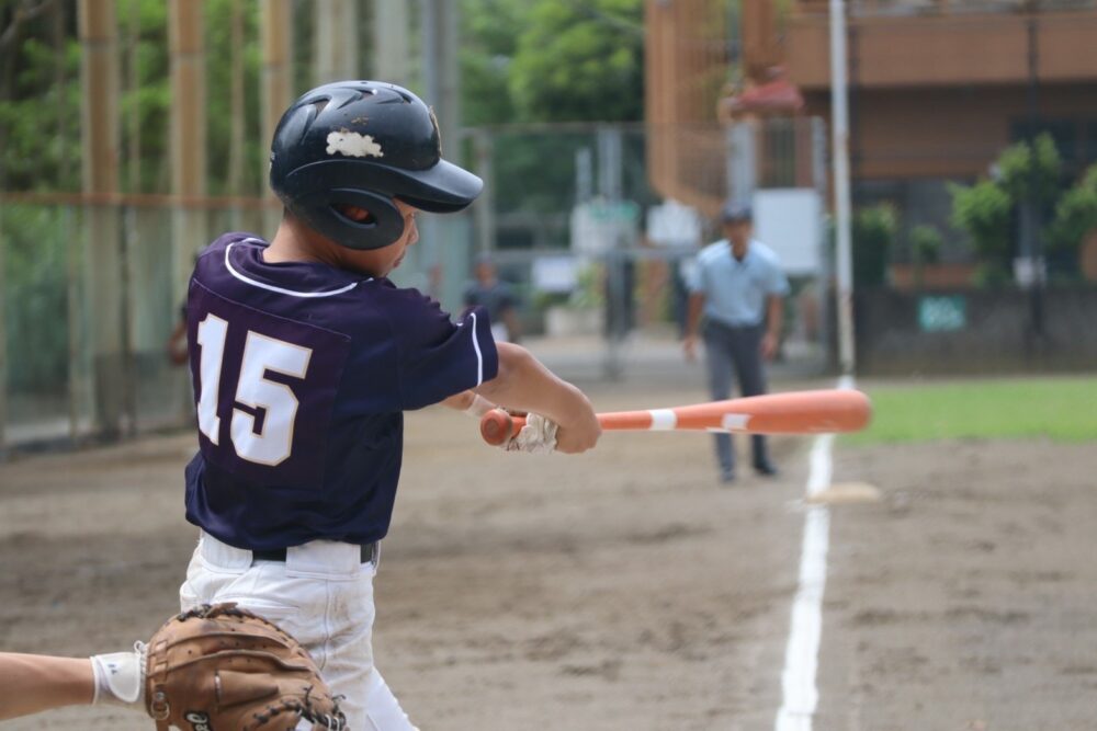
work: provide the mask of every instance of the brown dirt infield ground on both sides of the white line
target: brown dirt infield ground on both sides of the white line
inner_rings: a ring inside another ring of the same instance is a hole
[[[603,409],[704,400],[595,393]],[[425,730],[771,729],[796,591],[807,439],[717,484],[709,439],[611,434],[507,455],[409,415],[377,579],[378,666]],[[0,648],[87,654],[177,607],[190,436],[0,466]],[[832,509],[817,729],[1089,729],[1092,446],[837,450],[883,500]],[[48,629],[47,629],[48,628]],[[68,709],[5,729],[142,729]]]

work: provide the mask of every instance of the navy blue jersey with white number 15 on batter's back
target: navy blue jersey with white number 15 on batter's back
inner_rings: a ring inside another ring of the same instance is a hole
[[[495,377],[488,315],[454,323],[385,278],[268,264],[267,242],[207,248],[186,300],[199,454],[186,519],[251,549],[388,530],[404,414]]]

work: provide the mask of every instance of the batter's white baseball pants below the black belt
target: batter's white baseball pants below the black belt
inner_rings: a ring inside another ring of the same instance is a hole
[[[373,578],[358,546],[316,540],[286,560],[255,561],[251,551],[202,534],[179,590],[185,612],[236,602],[293,635],[313,655],[350,731],[417,731],[373,666]],[[376,559],[374,559],[376,561]]]

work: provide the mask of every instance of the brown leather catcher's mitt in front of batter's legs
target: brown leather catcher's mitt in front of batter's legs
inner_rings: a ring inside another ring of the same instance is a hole
[[[235,604],[169,619],[148,643],[145,707],[157,731],[343,731],[316,663],[278,626]]]

